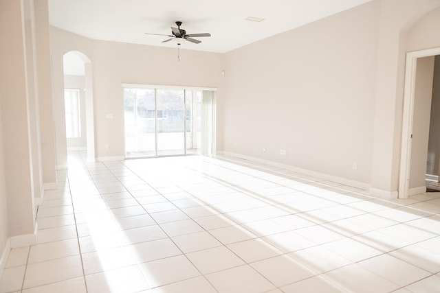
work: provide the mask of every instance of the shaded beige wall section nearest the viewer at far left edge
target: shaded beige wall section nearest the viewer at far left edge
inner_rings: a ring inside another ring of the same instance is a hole
[[[3,165],[7,195],[8,225],[12,246],[30,245],[34,238],[34,182],[32,176],[32,139],[28,104],[28,64],[23,36],[24,14],[21,1],[0,1],[0,103],[3,141]],[[35,158],[34,158],[35,159]],[[1,170],[1,168],[0,168]],[[0,171],[1,173],[1,171]],[[0,183],[2,181],[0,175]],[[2,190],[0,189],[0,193]],[[2,200],[4,202],[4,198]],[[0,239],[0,247],[5,239]]]

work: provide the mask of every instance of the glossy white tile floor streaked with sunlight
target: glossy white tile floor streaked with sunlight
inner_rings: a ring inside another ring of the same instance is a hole
[[[69,154],[0,292],[440,292],[440,196],[219,156]]]

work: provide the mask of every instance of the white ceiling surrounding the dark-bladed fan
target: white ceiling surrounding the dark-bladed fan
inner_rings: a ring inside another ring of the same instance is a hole
[[[209,32],[182,49],[225,53],[371,0],[49,0],[50,24],[98,40],[161,43],[175,21],[187,34]],[[245,20],[249,16],[261,22]]]

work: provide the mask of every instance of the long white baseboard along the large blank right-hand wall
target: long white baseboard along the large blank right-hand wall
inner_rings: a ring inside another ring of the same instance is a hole
[[[320,172],[315,172],[315,171],[311,171],[309,169],[302,169],[302,168],[298,168],[298,167],[294,167],[292,165],[286,165],[283,163],[277,163],[274,161],[269,161],[269,160],[264,160],[264,159],[259,159],[253,156],[245,156],[243,154],[236,154],[234,152],[225,152],[225,151],[218,151],[217,154],[225,154],[227,156],[234,156],[236,158],[239,159],[245,159],[245,160],[249,160],[249,161],[254,161],[256,163],[263,163],[266,165],[270,165],[273,167],[280,167],[283,169],[287,169],[290,171],[294,171],[294,172],[298,172],[301,174],[305,174],[308,176],[314,176],[314,177],[318,177],[318,178],[322,178],[325,180],[329,180],[329,181],[333,181],[336,183],[340,183],[343,185],[348,185],[351,187],[356,187],[359,189],[364,189],[364,190],[369,190],[370,189],[370,185],[366,184],[366,183],[362,183],[359,181],[355,181],[355,180],[351,180],[351,179],[347,179],[347,178],[342,178],[342,177],[338,177],[338,176],[333,176],[333,175],[329,175],[329,174],[325,174],[325,173],[320,173]]]

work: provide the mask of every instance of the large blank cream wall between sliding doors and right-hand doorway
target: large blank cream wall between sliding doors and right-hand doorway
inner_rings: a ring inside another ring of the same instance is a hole
[[[369,183],[378,10],[368,3],[226,54],[221,148]]]

